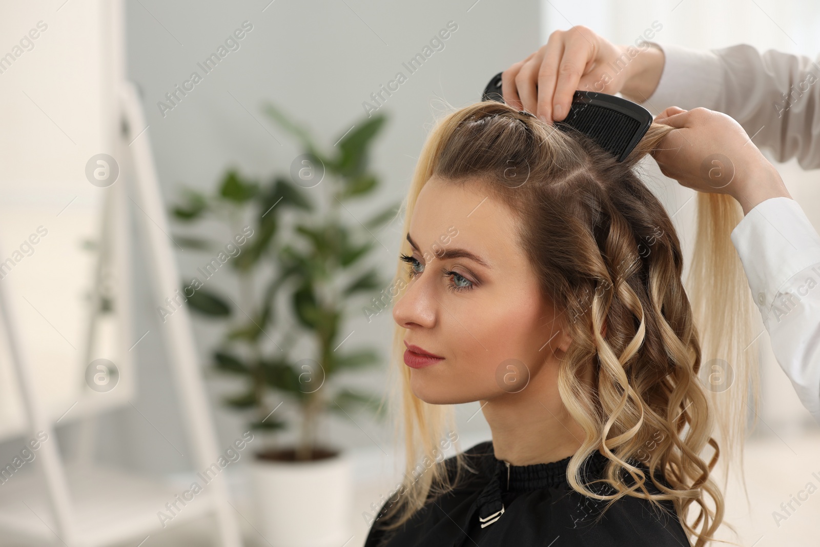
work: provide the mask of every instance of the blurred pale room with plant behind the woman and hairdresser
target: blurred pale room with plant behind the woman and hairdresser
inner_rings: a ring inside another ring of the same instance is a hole
[[[404,468],[377,407],[397,206],[436,116],[480,100],[493,75],[573,25],[613,43],[653,29],[653,41],[690,48],[820,52],[820,6],[808,1],[56,0],[2,11],[0,277],[12,328],[0,350],[0,545],[308,545],[323,511],[336,523],[314,545],[363,545]],[[777,166],[820,228],[818,174]],[[691,192],[652,162],[645,174],[689,250]],[[820,431],[765,332],[759,341],[763,405],[745,490],[738,473],[728,479],[737,534],[724,534],[815,545],[820,495],[785,520],[774,512],[820,486]],[[490,439],[478,403],[456,413],[448,454]],[[311,446],[342,455],[312,472],[287,461]],[[271,515],[316,481],[321,503],[282,532]],[[83,524],[66,531],[60,514]]]

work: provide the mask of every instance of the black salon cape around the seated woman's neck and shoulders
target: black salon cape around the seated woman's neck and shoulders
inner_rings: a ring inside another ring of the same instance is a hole
[[[428,497],[427,504],[396,530],[381,530],[385,517],[376,519],[364,547],[690,547],[668,500],[661,502],[667,509],[661,512],[645,499],[625,496],[597,518],[607,502],[580,495],[567,485],[570,458],[511,465],[508,476],[506,463],[494,456],[492,441],[476,444],[464,454],[478,474],[466,472],[466,480],[460,479],[455,490],[433,500]],[[606,462],[595,451],[585,461],[582,476],[586,481],[602,477]],[[454,457],[447,459],[448,469],[454,464]],[[604,488],[590,485],[601,494],[607,493]],[[658,492],[651,484],[647,488]],[[377,514],[383,515],[389,503]],[[504,512],[498,515],[502,507]],[[494,514],[498,520],[482,528],[479,518],[490,522]]]

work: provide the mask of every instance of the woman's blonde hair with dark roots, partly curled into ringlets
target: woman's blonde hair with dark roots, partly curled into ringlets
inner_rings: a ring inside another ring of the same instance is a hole
[[[559,366],[558,391],[585,438],[567,467],[569,485],[582,495],[610,500],[607,507],[626,495],[653,504],[671,499],[681,526],[699,547],[713,539],[724,513],[722,493],[711,476],[720,455],[713,426],[716,418],[726,418],[720,431],[734,433],[726,439],[736,442],[746,426],[739,409],[745,409],[747,391],[743,384],[720,394],[733,412],[716,415],[716,401],[698,377],[701,346],[681,281],[680,243],[667,212],[635,173],[640,158],[657,149],[670,130],[651,125],[630,156],[616,162],[583,135],[556,130],[504,103],[463,107],[435,125],[421,150],[405,203],[403,235],[421,188],[434,175],[448,184],[481,185],[510,206],[519,220],[518,244],[542,295],[572,317],[564,321],[572,344]],[[511,178],[511,166],[518,179]],[[701,287],[696,311],[706,318],[698,324],[721,334],[727,345],[720,355],[729,360],[740,344],[740,323],[750,317],[736,315],[748,307],[749,297],[740,260],[727,244],[738,220],[731,201],[701,196],[693,265],[693,280]],[[412,254],[404,239],[400,252]],[[409,284],[403,262],[394,282],[400,298]],[[452,405],[425,403],[410,390],[402,358],[404,332],[396,326],[390,397],[399,406],[397,431],[403,428],[407,472],[398,498],[378,516],[376,524],[386,530],[401,526],[430,495],[452,490],[462,470],[469,469],[458,453],[454,476],[440,464],[418,470],[422,459],[439,460],[440,440],[454,431],[455,422]],[[731,362],[737,363],[736,383],[748,381],[748,363]],[[580,380],[590,367],[593,385]],[[713,449],[708,462],[701,457],[707,445]],[[581,481],[581,464],[596,449],[608,458],[604,481],[613,495],[598,494]],[[641,451],[647,454],[649,476],[634,465]],[[667,484],[658,481],[656,472]],[[649,481],[659,493],[649,492]],[[690,508],[699,509],[691,524],[686,520]]]

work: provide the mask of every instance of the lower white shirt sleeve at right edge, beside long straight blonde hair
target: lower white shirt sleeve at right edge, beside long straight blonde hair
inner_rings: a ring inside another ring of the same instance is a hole
[[[731,233],[772,351],[820,422],[820,235],[792,199],[758,203]]]

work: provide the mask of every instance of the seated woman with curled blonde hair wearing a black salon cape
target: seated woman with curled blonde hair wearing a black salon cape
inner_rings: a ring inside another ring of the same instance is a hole
[[[408,472],[366,547],[713,538],[719,451],[681,248],[634,170],[668,130],[653,125],[618,163],[503,103],[436,125],[408,194],[393,312]],[[744,395],[723,417],[745,417]],[[449,405],[471,401],[493,440],[440,462]]]

